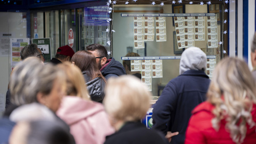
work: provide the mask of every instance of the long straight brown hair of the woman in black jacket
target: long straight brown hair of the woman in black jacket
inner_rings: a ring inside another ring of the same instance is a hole
[[[87,75],[91,78],[90,81],[96,77],[101,77],[106,83],[106,78],[102,76],[97,67],[96,58],[91,52],[78,51],[73,55],[71,61],[75,62],[81,71],[88,71]]]

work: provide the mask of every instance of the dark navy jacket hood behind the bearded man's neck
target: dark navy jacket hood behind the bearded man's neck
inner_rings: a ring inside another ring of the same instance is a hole
[[[126,74],[124,66],[119,61],[116,61],[114,58],[108,59],[106,65],[103,66],[100,69],[100,71],[104,77],[106,77],[106,75],[109,75],[109,74],[114,74],[117,76]]]

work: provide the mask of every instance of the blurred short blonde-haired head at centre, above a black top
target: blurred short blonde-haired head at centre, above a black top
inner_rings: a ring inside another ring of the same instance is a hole
[[[134,76],[111,78],[105,90],[103,103],[107,113],[115,121],[139,121],[150,107],[151,93]]]

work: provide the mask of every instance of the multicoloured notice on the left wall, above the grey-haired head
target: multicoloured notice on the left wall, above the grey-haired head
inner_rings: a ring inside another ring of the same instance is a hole
[[[20,51],[29,44],[29,38],[11,38],[11,66],[17,65],[20,61]]]

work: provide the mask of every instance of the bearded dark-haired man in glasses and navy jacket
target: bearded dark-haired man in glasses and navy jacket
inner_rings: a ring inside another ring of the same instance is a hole
[[[96,57],[96,62],[101,74],[106,78],[125,75],[124,66],[114,58],[107,59],[108,52],[101,44],[91,44],[86,46],[86,50]]]

